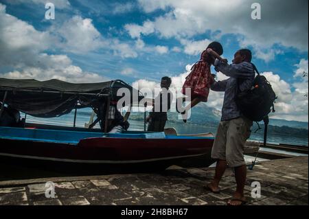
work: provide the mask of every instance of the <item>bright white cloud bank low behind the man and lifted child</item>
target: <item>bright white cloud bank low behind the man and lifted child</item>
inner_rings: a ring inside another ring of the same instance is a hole
[[[304,64],[305,63],[305,64]],[[302,71],[301,67],[306,67],[306,60],[301,60],[295,70],[295,73]],[[192,65],[186,65],[185,72],[180,73],[176,76],[172,76],[172,84],[170,89],[172,91],[181,92],[185,78],[191,71]],[[301,69],[301,70],[300,70]],[[306,69],[306,68],[305,68]],[[223,73],[216,73],[216,80],[226,80],[228,77]],[[268,71],[263,72],[262,76],[265,76],[267,80],[271,83],[273,90],[275,91],[278,99],[275,103],[275,113],[271,113],[270,117],[276,119],[287,119],[287,120],[297,120],[297,121],[308,121],[308,97],[304,95],[306,91],[308,94],[308,79],[304,79],[304,82],[299,82],[293,84],[291,87],[286,81],[282,80],[279,75]],[[307,80],[307,82],[305,81]],[[137,80],[135,83],[135,88],[150,90],[152,93],[155,88],[159,88],[159,82],[152,80]],[[137,86],[138,85],[138,86]],[[294,88],[294,91],[293,91]],[[176,93],[174,93],[176,96]],[[210,91],[208,102],[202,103],[205,106],[216,108],[221,111],[224,99],[224,92]],[[174,100],[175,102],[175,100]]]

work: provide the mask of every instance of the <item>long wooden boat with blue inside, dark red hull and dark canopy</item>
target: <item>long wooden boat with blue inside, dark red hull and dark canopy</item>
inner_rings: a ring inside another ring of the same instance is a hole
[[[109,98],[113,98],[111,91],[117,91],[115,87],[133,89],[122,81],[97,83],[93,86],[57,80],[52,83],[31,80],[29,84],[25,80],[0,79],[0,100],[23,113],[47,117],[69,113],[78,105],[76,102],[86,102],[83,107],[93,106],[98,97],[100,101],[108,102]],[[102,92],[104,89],[108,92]],[[92,99],[86,98],[89,96]],[[22,100],[23,97],[27,97],[26,100]],[[65,108],[62,106],[63,101],[66,103]],[[45,102],[52,102],[60,108],[46,106]],[[34,162],[44,167],[78,166],[87,170],[94,167],[149,170],[164,169],[170,165],[188,165],[184,164],[185,161],[197,158],[197,163],[189,165],[207,166],[212,162],[209,155],[213,141],[214,137],[165,135],[164,132],[107,134],[100,129],[26,123],[23,127],[0,127],[0,161]]]

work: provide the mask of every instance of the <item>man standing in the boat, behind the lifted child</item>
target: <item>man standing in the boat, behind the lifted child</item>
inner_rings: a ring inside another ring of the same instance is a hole
[[[172,103],[172,93],[170,92],[172,79],[169,77],[161,78],[161,92],[152,100],[152,112],[146,118],[149,132],[163,132],[166,121],[168,121],[168,111]],[[158,106],[159,107],[156,107]]]

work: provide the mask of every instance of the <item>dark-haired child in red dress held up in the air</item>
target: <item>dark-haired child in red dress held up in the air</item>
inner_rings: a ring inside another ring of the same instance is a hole
[[[192,71],[185,78],[185,83],[183,84],[183,89],[181,93],[183,95],[188,95],[186,89],[191,90],[191,102],[185,107],[183,112],[180,112],[178,109],[178,104],[176,103],[176,110],[183,115],[183,122],[187,122],[187,111],[190,108],[196,106],[200,102],[207,102],[209,95],[209,87],[213,82],[211,76],[210,67],[214,64],[214,60],[217,58],[223,62],[227,62],[225,58],[220,56],[223,54],[222,45],[218,42],[210,43],[207,48],[202,52],[201,59],[192,66]],[[177,102],[185,102],[185,97],[177,99]]]

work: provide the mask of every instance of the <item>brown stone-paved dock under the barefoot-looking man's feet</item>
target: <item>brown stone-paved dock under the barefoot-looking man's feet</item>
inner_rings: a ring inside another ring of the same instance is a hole
[[[223,176],[220,194],[203,189],[213,176],[214,168],[174,167],[152,174],[2,181],[0,205],[226,205],[236,187],[233,172]],[[54,198],[46,197],[52,195],[47,181],[54,182]],[[255,198],[253,182],[261,188]],[[255,165],[248,171],[245,192],[247,205],[308,205],[308,157]]]

